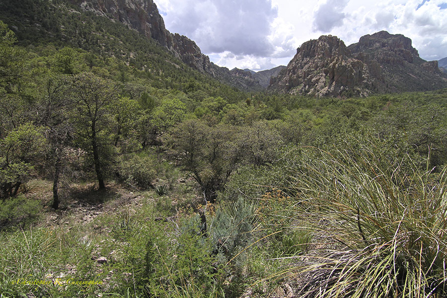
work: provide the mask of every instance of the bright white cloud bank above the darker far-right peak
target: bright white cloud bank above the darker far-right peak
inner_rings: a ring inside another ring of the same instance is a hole
[[[447,10],[445,0],[350,0],[345,7],[343,24],[328,34],[337,35],[347,45],[366,34],[386,30],[412,40],[421,58],[438,60],[447,56]],[[423,5],[422,5],[423,3]]]

